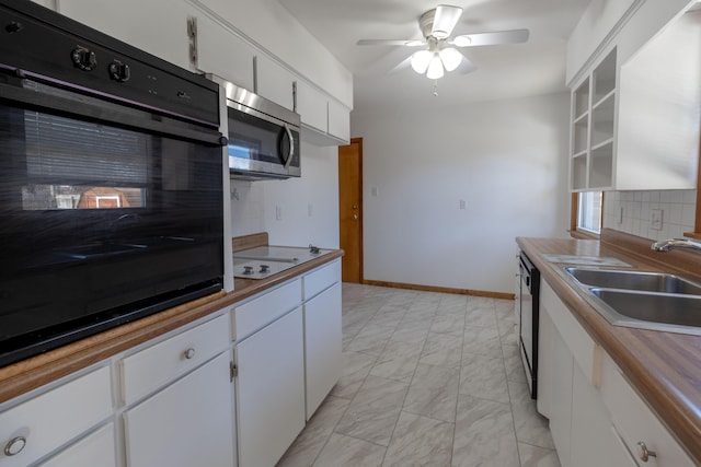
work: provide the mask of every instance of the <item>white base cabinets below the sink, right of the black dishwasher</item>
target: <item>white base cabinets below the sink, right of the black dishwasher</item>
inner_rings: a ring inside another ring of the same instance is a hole
[[[538,410],[563,467],[694,465],[547,282],[539,340]],[[640,442],[657,456],[643,460]]]

